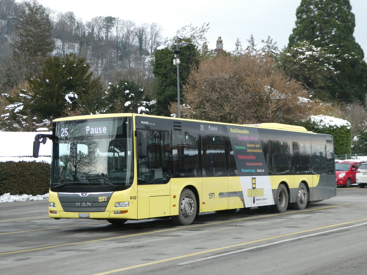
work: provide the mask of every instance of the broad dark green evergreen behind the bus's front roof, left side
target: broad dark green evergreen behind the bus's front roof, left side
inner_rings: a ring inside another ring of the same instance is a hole
[[[89,63],[75,54],[48,58],[41,74],[29,79],[31,100],[26,109],[40,119],[65,116],[69,111],[95,113],[105,107],[100,77],[92,78]]]

